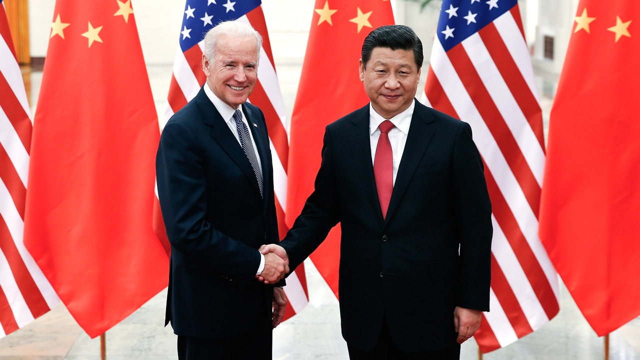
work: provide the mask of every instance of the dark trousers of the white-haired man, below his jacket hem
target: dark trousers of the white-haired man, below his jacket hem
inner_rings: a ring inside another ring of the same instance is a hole
[[[271,311],[250,331],[220,339],[178,336],[178,360],[271,360]]]

